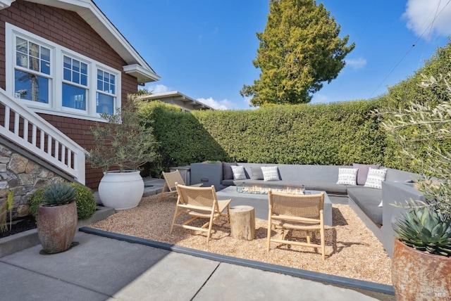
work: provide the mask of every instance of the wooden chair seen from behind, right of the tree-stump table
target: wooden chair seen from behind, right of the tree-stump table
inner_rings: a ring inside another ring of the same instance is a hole
[[[268,191],[268,244],[302,245],[304,247],[321,248],[321,259],[325,257],[326,243],[324,241],[324,193],[311,195],[292,195]],[[282,228],[282,238],[271,238],[271,229],[274,226]],[[307,232],[307,242],[289,241],[285,239],[285,229],[304,230]],[[311,243],[310,232],[319,231],[321,244]]]

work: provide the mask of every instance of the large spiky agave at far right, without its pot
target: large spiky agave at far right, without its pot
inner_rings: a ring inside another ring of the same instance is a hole
[[[411,248],[451,256],[451,219],[431,207],[409,207],[393,229],[397,238]]]

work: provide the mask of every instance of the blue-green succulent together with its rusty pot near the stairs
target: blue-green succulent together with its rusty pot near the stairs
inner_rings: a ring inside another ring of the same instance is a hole
[[[37,212],[37,236],[45,252],[68,250],[77,230],[75,188],[69,183],[51,184],[44,189]]]

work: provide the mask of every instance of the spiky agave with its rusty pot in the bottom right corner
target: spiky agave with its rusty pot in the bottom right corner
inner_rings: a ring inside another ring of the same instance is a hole
[[[397,300],[450,300],[451,219],[430,205],[395,222],[392,280]]]

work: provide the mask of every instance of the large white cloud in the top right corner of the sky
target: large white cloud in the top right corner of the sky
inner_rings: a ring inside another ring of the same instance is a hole
[[[402,18],[407,20],[407,28],[417,36],[427,39],[432,31],[438,36],[451,34],[451,4],[444,0],[408,0]],[[435,20],[434,20],[435,18]]]

